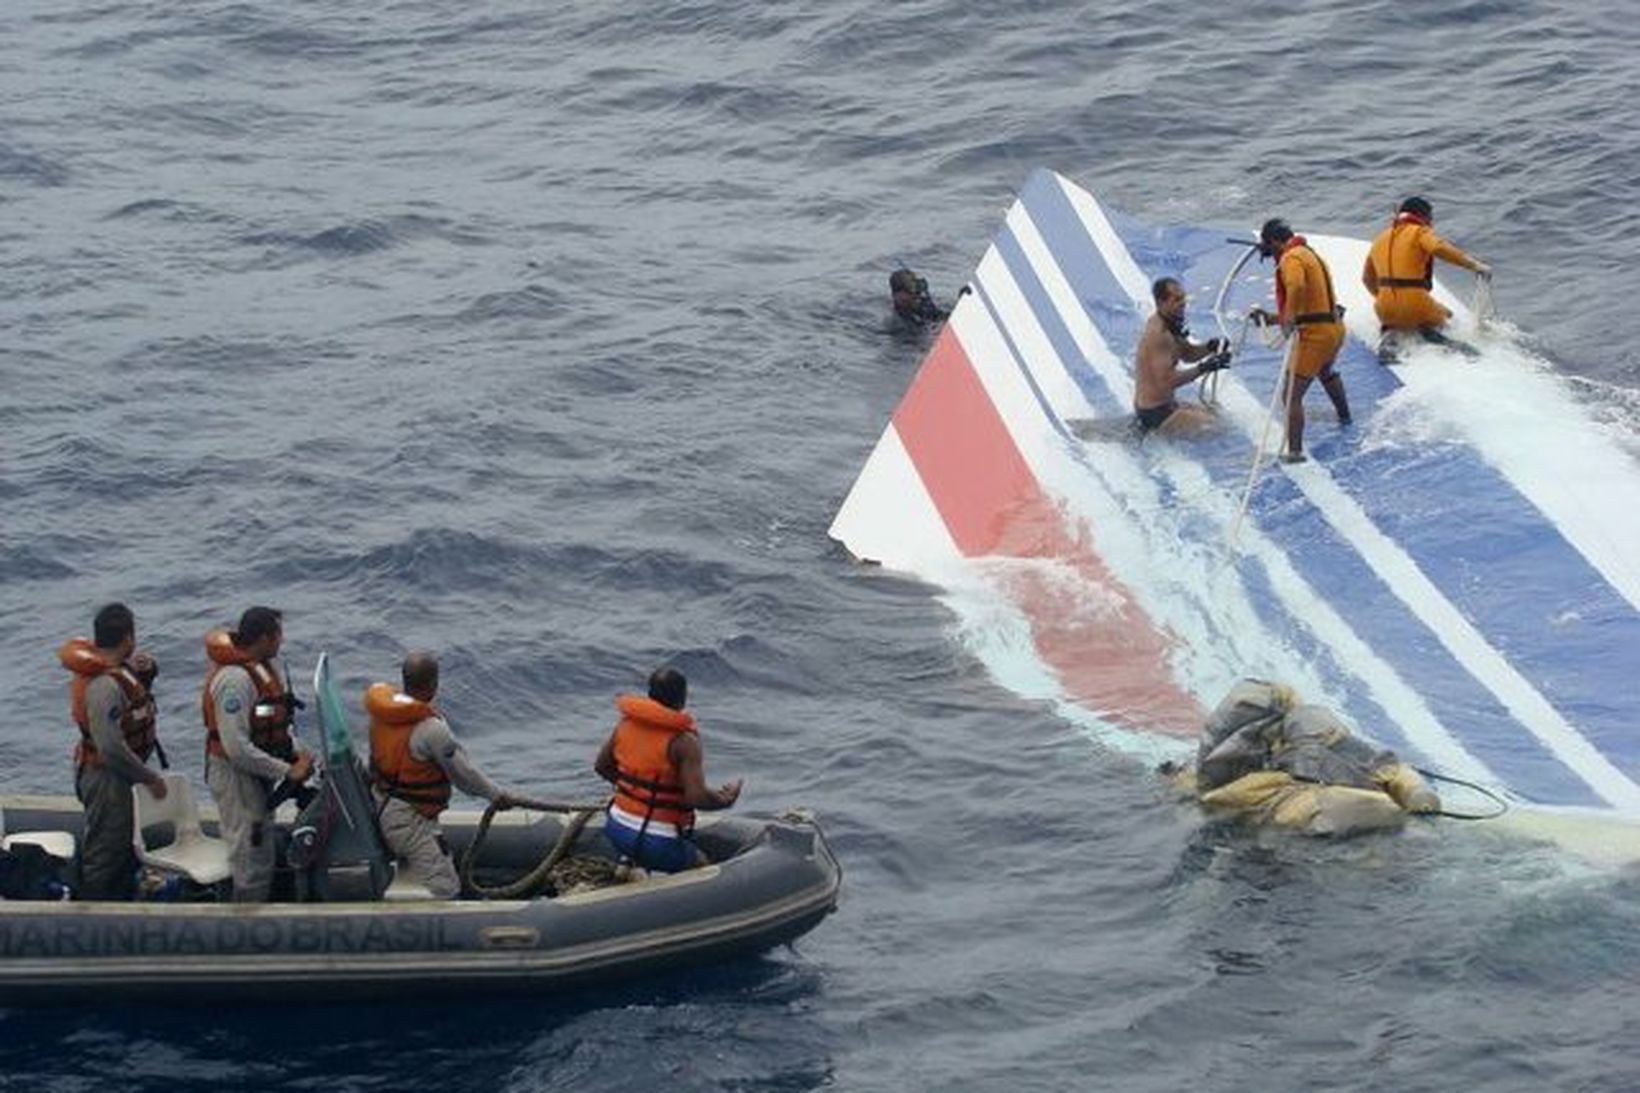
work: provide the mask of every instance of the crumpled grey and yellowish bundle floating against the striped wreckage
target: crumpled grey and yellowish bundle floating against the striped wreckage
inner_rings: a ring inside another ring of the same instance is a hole
[[[1204,807],[1307,835],[1383,830],[1440,811],[1435,791],[1394,752],[1263,679],[1243,679],[1219,702],[1202,725],[1194,771],[1164,763],[1163,773]]]

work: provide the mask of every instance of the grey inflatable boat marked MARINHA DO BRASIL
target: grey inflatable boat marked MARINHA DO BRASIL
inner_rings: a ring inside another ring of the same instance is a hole
[[[638,871],[533,898],[430,899],[413,878],[395,880],[380,853],[323,658],[315,689],[325,784],[300,812],[285,806],[279,824],[290,850],[276,896],[287,899],[216,899],[215,816],[156,819],[139,807],[143,858],[169,862],[187,880],[180,894],[167,886],[171,901],[0,899],[0,1006],[379,998],[431,983],[441,995],[549,991],[763,952],[836,908],[841,868],[800,812],[704,816],[697,840],[710,865],[682,873]],[[72,798],[0,798],[11,848],[71,855],[80,819]],[[477,850],[466,862],[469,888],[505,891],[553,855],[617,873],[599,814],[517,811],[482,822],[446,812],[441,825],[458,860]]]

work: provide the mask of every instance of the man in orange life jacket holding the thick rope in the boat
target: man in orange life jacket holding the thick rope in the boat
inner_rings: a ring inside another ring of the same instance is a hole
[[[403,862],[435,899],[461,894],[461,876],[438,829],[449,806],[451,786],[512,807],[518,798],[472,765],[433,699],[438,697],[438,660],[410,653],[400,666],[403,691],[376,683],[364,693],[371,716],[371,788],[376,793],[382,842]]]

